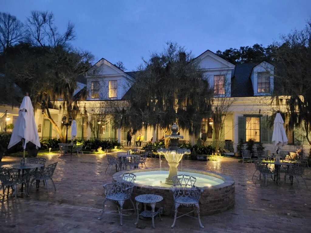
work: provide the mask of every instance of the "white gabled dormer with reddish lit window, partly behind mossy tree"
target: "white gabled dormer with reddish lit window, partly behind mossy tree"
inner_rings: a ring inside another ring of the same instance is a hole
[[[196,59],[199,60],[200,69],[204,70],[204,76],[210,87],[214,89],[215,97],[231,96],[231,78],[235,65],[210,50]]]

